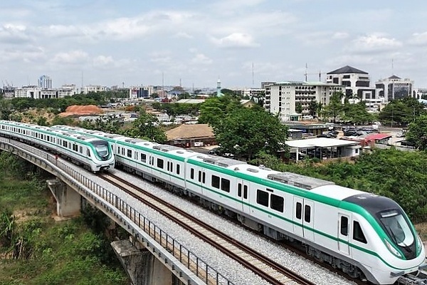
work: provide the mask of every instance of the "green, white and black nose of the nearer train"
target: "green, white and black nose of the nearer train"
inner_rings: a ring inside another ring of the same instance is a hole
[[[376,233],[374,252],[367,254],[377,257],[374,263],[369,264],[376,279],[370,281],[377,284],[393,284],[399,276],[426,267],[421,239],[399,204],[387,197],[370,193],[347,197],[343,202],[362,207],[367,212],[364,215],[367,222]]]

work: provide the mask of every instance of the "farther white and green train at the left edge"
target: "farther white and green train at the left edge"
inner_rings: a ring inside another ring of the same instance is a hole
[[[54,152],[91,172],[115,165],[112,145],[101,138],[9,120],[0,120],[0,135]]]

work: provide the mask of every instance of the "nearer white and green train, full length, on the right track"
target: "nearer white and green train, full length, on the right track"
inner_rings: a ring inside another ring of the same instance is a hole
[[[426,267],[420,237],[389,198],[171,145],[53,128],[107,140],[117,166],[197,197],[269,237],[300,241],[308,254],[352,277],[393,284]]]

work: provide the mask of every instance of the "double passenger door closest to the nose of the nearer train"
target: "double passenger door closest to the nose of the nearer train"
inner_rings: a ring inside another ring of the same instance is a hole
[[[294,211],[292,214],[294,233],[305,239],[314,240],[314,209],[315,204],[307,199],[294,197]]]

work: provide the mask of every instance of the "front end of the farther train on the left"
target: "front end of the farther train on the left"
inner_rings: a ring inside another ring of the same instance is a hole
[[[112,147],[106,140],[100,140],[98,138],[92,138],[87,140],[90,145],[93,145],[92,161],[95,164],[94,171],[107,170],[114,168],[115,158],[112,154]]]

